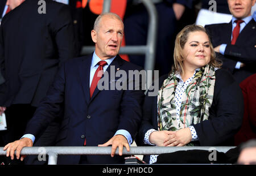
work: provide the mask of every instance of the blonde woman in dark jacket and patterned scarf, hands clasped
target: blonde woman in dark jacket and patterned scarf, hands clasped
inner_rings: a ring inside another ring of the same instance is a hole
[[[174,66],[159,78],[156,96],[147,96],[139,145],[233,145],[243,118],[243,95],[215,57],[200,25],[188,25],[175,40]],[[154,90],[152,90],[154,91]],[[152,164],[157,156],[145,156]]]

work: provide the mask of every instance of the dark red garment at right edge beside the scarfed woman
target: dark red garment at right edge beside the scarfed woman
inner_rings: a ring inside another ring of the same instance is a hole
[[[235,144],[239,145],[250,139],[256,139],[256,74],[240,83],[245,103],[245,113],[240,131],[235,136]]]

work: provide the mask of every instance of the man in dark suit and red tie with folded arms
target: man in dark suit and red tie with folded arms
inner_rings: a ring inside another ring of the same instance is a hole
[[[217,57],[238,82],[256,73],[256,22],[251,16],[255,0],[228,0],[230,23],[205,25]]]

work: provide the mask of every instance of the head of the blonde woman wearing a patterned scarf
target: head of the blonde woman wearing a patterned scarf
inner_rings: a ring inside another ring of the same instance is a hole
[[[220,67],[210,37],[201,25],[187,25],[176,36],[174,48],[174,66],[172,70],[183,75],[184,72],[209,64]]]

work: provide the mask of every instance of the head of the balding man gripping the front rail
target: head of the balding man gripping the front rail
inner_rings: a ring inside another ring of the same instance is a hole
[[[105,60],[118,54],[123,39],[123,23],[108,15],[102,16],[98,30],[91,32],[95,53]]]

